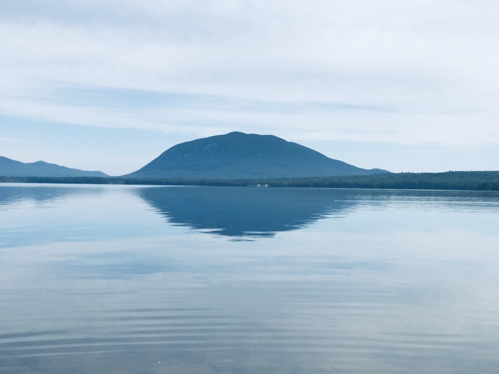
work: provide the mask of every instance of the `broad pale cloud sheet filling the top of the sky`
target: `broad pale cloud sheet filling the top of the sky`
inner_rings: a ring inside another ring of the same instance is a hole
[[[11,68],[114,87],[373,100],[477,78],[469,67],[498,51],[493,2],[56,3],[2,22]]]

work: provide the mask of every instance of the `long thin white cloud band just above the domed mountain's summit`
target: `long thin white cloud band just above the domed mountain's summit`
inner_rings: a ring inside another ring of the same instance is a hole
[[[459,147],[495,143],[499,136],[497,127],[487,127],[493,118],[461,108],[443,111],[438,106],[256,100],[99,86],[53,86],[29,100],[5,96],[0,110],[12,117],[45,121],[40,126],[49,125],[46,120],[50,119],[57,123],[197,136],[239,130],[272,133],[296,142],[367,139]],[[479,123],[470,131],[469,123],[476,121]],[[310,124],[305,133],[304,124]]]

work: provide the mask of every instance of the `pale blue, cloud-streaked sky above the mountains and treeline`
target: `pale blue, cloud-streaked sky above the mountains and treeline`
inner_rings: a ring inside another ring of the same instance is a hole
[[[0,0],[0,156],[112,176],[271,134],[360,168],[499,170],[496,0]]]

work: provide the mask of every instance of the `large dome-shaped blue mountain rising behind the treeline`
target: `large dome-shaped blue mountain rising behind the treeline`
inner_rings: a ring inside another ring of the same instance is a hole
[[[272,135],[232,132],[178,144],[127,178],[301,178],[389,173],[360,169]]]

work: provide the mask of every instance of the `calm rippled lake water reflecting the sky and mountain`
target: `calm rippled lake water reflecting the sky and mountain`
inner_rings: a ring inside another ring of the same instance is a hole
[[[499,193],[0,184],[0,373],[498,373]]]

